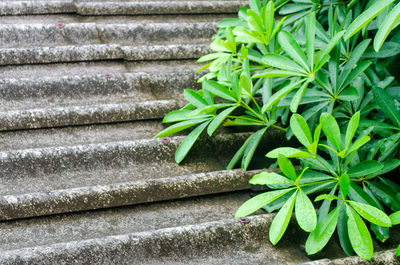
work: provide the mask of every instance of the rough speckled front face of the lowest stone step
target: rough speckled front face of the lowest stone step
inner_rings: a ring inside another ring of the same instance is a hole
[[[178,217],[178,216],[176,216]],[[178,217],[179,218],[179,217]],[[229,253],[219,264],[296,264],[307,261],[298,240],[278,248],[266,240],[271,215],[198,223],[152,232],[108,236],[70,243],[0,252],[2,264],[183,264],[192,259],[210,260]],[[254,255],[254,253],[257,253]],[[167,263],[168,264],[168,263]],[[198,264],[201,264],[198,262]],[[248,263],[247,263],[248,264]]]

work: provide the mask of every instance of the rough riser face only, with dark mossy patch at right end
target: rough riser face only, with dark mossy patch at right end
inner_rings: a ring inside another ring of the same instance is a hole
[[[0,98],[6,101],[84,99],[90,96],[122,94],[129,95],[130,100],[142,101],[140,92],[143,92],[158,99],[172,99],[180,96],[184,88],[199,88],[198,77],[193,71],[188,71],[3,79],[0,80]]]

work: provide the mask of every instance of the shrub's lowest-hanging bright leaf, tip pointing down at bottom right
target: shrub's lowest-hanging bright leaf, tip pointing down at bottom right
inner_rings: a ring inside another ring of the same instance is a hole
[[[367,226],[361,217],[347,205],[346,212],[349,217],[347,220],[349,238],[354,251],[363,259],[371,260],[374,249]]]

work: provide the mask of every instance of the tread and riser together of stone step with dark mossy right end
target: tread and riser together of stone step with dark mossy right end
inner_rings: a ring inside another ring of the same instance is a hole
[[[165,61],[0,67],[0,110],[16,108],[16,102],[11,101],[24,100],[33,101],[32,106],[47,106],[96,97],[99,102],[104,102],[101,97],[115,97],[108,100],[110,103],[177,99],[184,88],[200,87],[200,75],[195,74],[200,66],[193,61]],[[47,102],[38,102],[41,100]]]

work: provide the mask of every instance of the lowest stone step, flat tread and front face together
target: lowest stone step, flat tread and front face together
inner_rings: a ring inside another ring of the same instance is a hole
[[[305,235],[268,241],[273,215],[233,219],[247,192],[0,223],[1,264],[297,264]],[[331,247],[330,251],[336,250]],[[329,257],[329,256],[328,256]]]

